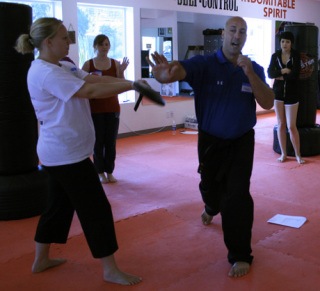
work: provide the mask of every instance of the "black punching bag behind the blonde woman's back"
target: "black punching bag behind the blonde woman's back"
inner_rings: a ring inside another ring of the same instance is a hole
[[[0,3],[0,220],[40,214],[47,196],[47,177],[36,153],[37,120],[27,88],[34,56],[14,49],[31,23],[30,6]]]

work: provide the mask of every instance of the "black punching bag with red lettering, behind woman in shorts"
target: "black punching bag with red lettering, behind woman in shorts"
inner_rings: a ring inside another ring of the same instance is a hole
[[[318,27],[310,24],[291,24],[284,27],[294,35],[294,48],[300,52],[301,71],[299,77],[299,109],[297,127],[300,136],[300,152],[302,156],[320,154],[320,126],[316,124],[318,98]],[[275,152],[281,154],[274,127]],[[295,152],[287,131],[287,154]]]

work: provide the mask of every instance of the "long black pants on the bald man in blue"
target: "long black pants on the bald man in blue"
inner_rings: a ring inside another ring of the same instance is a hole
[[[205,210],[222,218],[224,242],[231,264],[251,263],[253,200],[250,178],[254,130],[236,140],[222,140],[199,132],[199,184]]]

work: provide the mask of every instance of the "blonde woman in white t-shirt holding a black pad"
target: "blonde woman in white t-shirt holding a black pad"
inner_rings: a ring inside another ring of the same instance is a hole
[[[51,259],[51,243],[66,243],[76,211],[94,258],[101,259],[105,281],[133,285],[141,278],[118,269],[118,249],[111,206],[90,160],[94,127],[89,100],[105,98],[133,89],[133,82],[94,76],[70,62],[68,31],[56,18],[40,18],[30,34],[16,44],[20,53],[39,50],[28,72],[27,82],[39,121],[39,159],[48,173],[49,194],[40,217],[35,241],[34,273],[59,266],[66,260]]]

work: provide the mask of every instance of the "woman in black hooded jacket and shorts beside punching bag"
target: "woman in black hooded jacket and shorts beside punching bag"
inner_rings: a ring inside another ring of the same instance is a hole
[[[290,31],[280,34],[281,49],[270,60],[268,76],[274,79],[274,109],[278,120],[278,140],[281,149],[279,162],[287,159],[287,128],[299,164],[305,161],[300,154],[300,137],[297,129],[299,108],[299,74],[301,70],[300,53],[292,48],[294,35]]]

